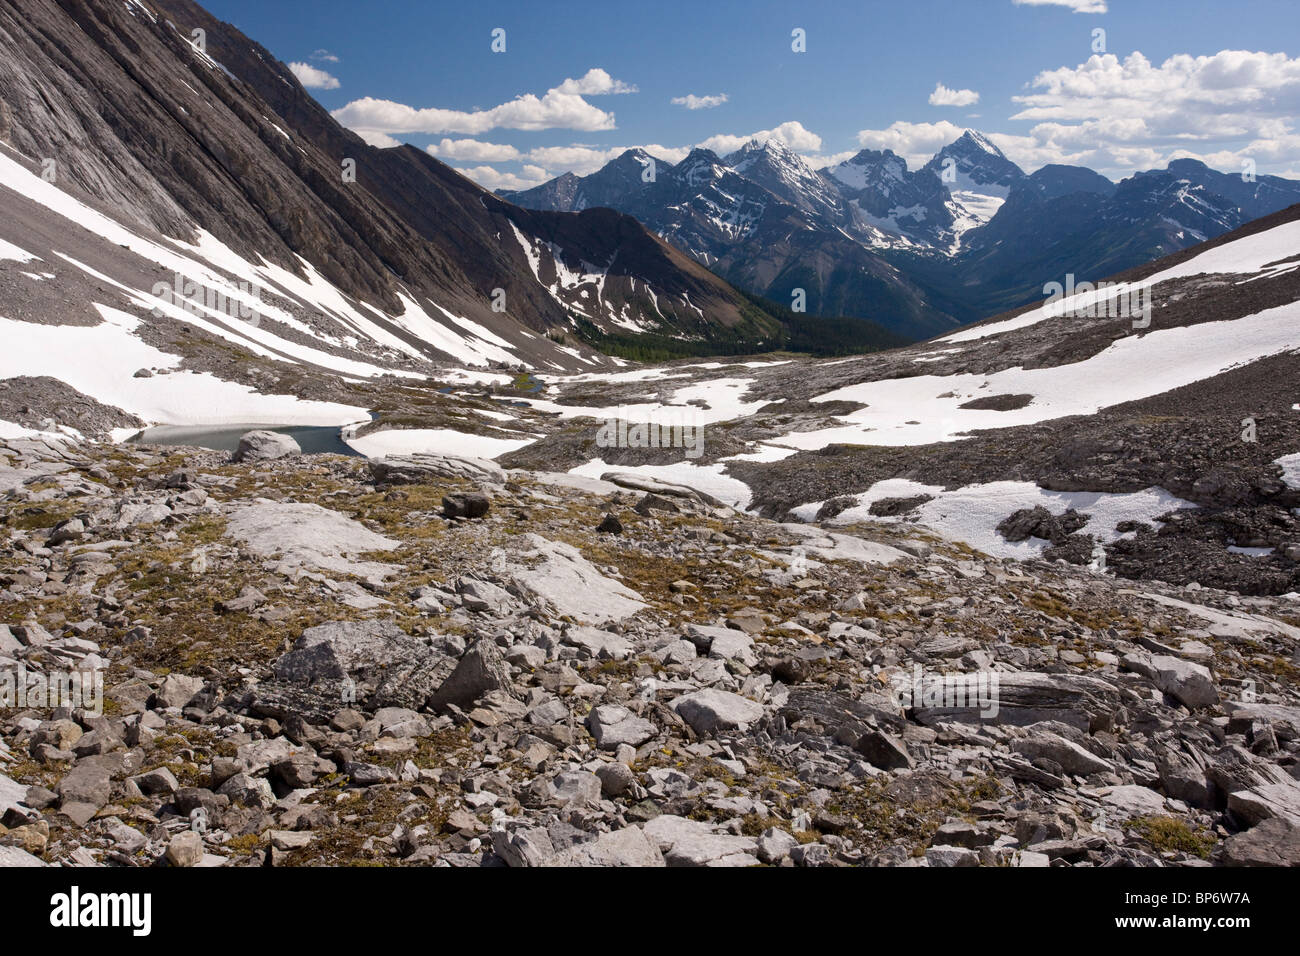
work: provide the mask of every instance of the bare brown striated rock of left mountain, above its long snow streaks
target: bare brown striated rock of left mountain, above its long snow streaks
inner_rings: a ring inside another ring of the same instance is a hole
[[[628,216],[519,209],[421,150],[367,146],[287,66],[190,0],[5,0],[0,44],[4,142],[38,169],[52,161],[58,187],[134,228],[186,242],[202,230],[302,278],[306,260],[387,316],[408,311],[402,295],[441,316],[437,303],[503,334],[520,359],[545,354],[560,367],[573,356],[517,334],[519,323],[568,325],[580,304],[577,289],[551,291],[556,259],[581,269],[618,252],[599,307],[584,310],[598,328],[621,315],[705,337],[780,329]],[[344,178],[344,161],[355,177]],[[494,289],[508,317],[493,311]],[[385,332],[447,358],[400,324]]]

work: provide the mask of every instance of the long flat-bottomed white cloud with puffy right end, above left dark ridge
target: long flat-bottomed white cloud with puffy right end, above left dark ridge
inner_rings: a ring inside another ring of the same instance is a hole
[[[588,103],[582,96],[633,92],[636,87],[614,79],[601,69],[588,70],[580,79],[566,79],[543,96],[523,94],[491,109],[416,109],[393,100],[365,96],[352,100],[333,116],[348,129],[380,133],[486,133],[493,129],[516,130],[612,130],[614,113]]]

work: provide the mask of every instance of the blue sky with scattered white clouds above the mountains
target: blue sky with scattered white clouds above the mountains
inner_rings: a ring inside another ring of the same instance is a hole
[[[491,189],[588,173],[632,146],[676,160],[753,135],[812,165],[889,147],[915,166],[963,127],[1027,170],[1122,178],[1196,156],[1300,177],[1296,0],[207,7],[370,142],[429,148]]]

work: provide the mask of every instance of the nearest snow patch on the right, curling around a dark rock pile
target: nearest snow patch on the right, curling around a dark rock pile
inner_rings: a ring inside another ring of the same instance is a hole
[[[910,498],[933,496],[931,501],[907,512],[907,519],[932,528],[939,535],[962,541],[985,554],[997,558],[1036,558],[1048,546],[1043,538],[1008,541],[997,533],[997,525],[1008,515],[1020,509],[1043,506],[1053,514],[1074,509],[1088,515],[1088,523],[1082,533],[1092,535],[1102,541],[1115,541],[1124,535],[1115,531],[1121,522],[1152,523],[1160,515],[1178,509],[1196,507],[1161,488],[1148,488],[1131,494],[1106,494],[1104,492],[1049,492],[1031,481],[991,481],[983,485],[968,485],[953,492],[945,492],[941,485],[923,485],[918,481],[889,479],[878,481],[862,494],[854,496],[857,503],[845,509],[831,524],[850,524],[853,522],[898,522],[901,518],[880,518],[871,514],[871,505],[883,498]],[[792,514],[801,520],[811,522],[824,502],[800,505]]]

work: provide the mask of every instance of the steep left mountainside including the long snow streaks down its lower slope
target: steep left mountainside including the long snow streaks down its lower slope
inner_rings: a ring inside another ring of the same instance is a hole
[[[779,321],[625,216],[521,211],[421,151],[367,146],[283,64],[187,0],[5,4],[0,38],[0,189],[16,207],[0,229],[47,272],[61,267],[12,295],[42,302],[51,321],[82,311],[69,304],[96,281],[60,261],[72,255],[116,284],[101,306],[134,315],[168,272],[200,294],[247,282],[268,300],[263,345],[283,352],[265,337],[300,333],[380,367],[608,364],[577,343],[578,317],[606,332],[779,339]],[[57,217],[105,243],[72,230],[74,254]]]

